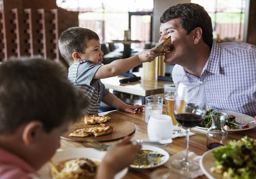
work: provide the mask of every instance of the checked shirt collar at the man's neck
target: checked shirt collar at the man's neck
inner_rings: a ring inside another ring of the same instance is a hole
[[[213,74],[220,73],[220,56],[221,56],[221,46],[215,41],[212,43],[212,48],[210,56],[204,65],[203,71],[207,70]]]

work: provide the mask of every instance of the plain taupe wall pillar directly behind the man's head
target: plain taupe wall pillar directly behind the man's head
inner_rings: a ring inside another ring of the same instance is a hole
[[[170,6],[174,6],[180,3],[190,3],[189,0],[154,0],[154,16],[153,16],[153,41],[157,42],[160,38],[159,27],[160,17],[162,13]]]

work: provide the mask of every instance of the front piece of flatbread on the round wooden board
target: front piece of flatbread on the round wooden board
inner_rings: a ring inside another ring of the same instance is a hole
[[[113,131],[112,126],[101,126],[101,127],[92,127],[92,128],[82,128],[77,129],[74,132],[70,133],[69,136],[72,137],[87,137],[89,135],[103,136]]]

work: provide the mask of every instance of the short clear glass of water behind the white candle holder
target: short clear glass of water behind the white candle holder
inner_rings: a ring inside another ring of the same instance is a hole
[[[163,110],[163,98],[158,96],[145,97],[145,121],[148,123],[151,115],[161,115]]]

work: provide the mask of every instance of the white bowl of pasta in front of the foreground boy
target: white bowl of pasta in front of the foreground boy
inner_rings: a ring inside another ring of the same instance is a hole
[[[73,148],[57,151],[51,162],[42,166],[37,173],[40,178],[95,178],[99,166],[106,151],[94,148]],[[115,179],[122,178],[128,168],[115,175]]]

